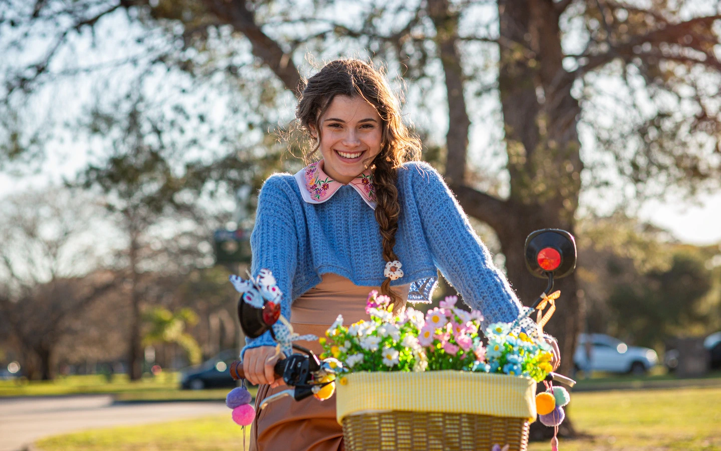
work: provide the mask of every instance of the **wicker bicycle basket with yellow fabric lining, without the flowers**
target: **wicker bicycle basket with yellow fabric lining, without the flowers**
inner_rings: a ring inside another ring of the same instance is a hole
[[[526,450],[536,382],[459,371],[359,372],[337,381],[345,449]]]

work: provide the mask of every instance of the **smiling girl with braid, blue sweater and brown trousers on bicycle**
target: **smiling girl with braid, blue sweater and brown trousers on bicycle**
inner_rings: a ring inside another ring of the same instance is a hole
[[[372,289],[396,310],[430,302],[438,270],[485,325],[518,317],[520,302],[443,178],[417,162],[420,141],[379,70],[332,61],[308,79],[296,118],[312,143],[306,157],[322,159],[265,181],[251,246],[253,275],[273,272],[297,333],[323,336],[339,314],[347,324],[368,319]],[[317,342],[299,344],[321,351]],[[269,332],[247,339],[242,358],[247,380],[262,384],[251,450],[343,449],[335,397],[283,398],[258,410],[283,389]]]

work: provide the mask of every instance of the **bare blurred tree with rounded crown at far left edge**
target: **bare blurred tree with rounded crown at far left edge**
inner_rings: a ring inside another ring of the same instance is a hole
[[[102,227],[102,215],[82,193],[20,193],[0,210],[0,335],[21,351],[30,377],[50,380],[60,341],[90,326],[75,319],[122,276],[102,269],[88,234]]]

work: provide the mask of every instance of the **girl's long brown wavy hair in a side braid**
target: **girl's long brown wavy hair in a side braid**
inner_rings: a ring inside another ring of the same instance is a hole
[[[331,61],[304,83],[296,108],[296,119],[301,131],[310,139],[314,139],[314,131],[320,133],[320,118],[337,95],[362,97],[381,116],[381,152],[372,162],[366,162],[366,166],[373,171],[373,185],[378,201],[376,221],[383,237],[383,258],[386,261],[397,260],[393,250],[400,214],[397,170],[404,162],[420,158],[420,139],[403,123],[400,99],[392,92],[384,70],[372,62],[355,58]],[[311,161],[319,145],[320,139],[304,152],[306,163]],[[383,270],[379,268],[379,271]],[[390,278],[381,284],[381,294],[391,298],[394,310],[399,311],[404,307],[404,299],[391,289]]]

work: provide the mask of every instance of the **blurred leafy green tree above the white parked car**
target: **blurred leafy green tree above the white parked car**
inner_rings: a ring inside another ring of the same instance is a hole
[[[667,338],[715,330],[717,246],[681,245],[668,232],[621,214],[584,219],[578,231],[589,332],[661,350]]]

